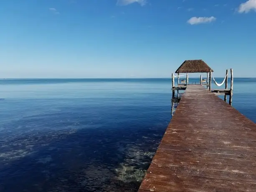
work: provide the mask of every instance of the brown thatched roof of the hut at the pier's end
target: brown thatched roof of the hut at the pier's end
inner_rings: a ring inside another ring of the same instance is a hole
[[[208,73],[210,67],[203,60],[186,60],[175,73]],[[212,70],[213,72],[213,70]]]

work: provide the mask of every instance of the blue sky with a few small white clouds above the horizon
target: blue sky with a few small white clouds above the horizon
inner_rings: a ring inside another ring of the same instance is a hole
[[[256,0],[6,0],[0,26],[0,78],[256,77]]]

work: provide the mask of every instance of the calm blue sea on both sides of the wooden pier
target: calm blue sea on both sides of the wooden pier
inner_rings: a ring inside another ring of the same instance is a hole
[[[233,96],[254,122],[255,83],[235,78]],[[171,119],[167,78],[7,79],[0,90],[1,192],[135,192]]]

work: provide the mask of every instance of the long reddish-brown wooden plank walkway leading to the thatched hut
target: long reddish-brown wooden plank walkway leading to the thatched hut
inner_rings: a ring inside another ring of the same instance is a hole
[[[256,192],[256,124],[189,85],[139,189],[152,191]]]

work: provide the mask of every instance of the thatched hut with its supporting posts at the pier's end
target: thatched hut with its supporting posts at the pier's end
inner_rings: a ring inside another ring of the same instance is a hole
[[[188,73],[207,73],[207,84],[209,84],[210,71],[213,72],[213,70],[203,60],[200,59],[184,61],[181,66],[175,71],[175,73],[178,73],[178,85],[180,84],[180,73],[187,73],[186,84],[188,84]],[[203,82],[205,82],[205,80],[202,79],[201,75],[200,83],[202,84]],[[183,80],[182,83],[185,84],[185,80]]]

